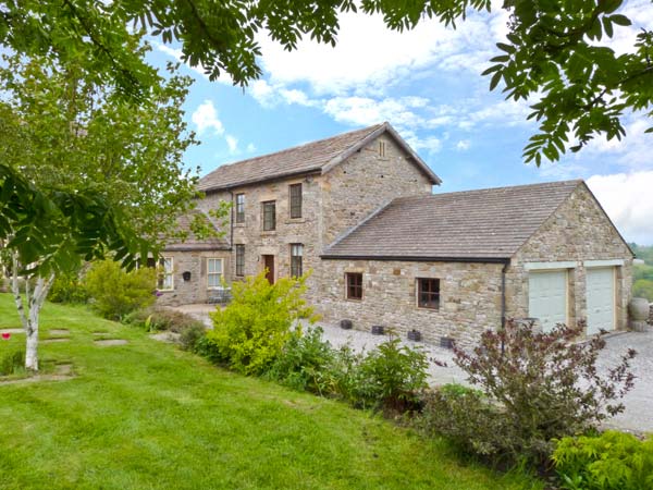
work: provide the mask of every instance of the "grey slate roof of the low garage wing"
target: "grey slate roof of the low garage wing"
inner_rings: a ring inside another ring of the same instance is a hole
[[[504,260],[582,181],[401,197],[322,258]]]

